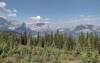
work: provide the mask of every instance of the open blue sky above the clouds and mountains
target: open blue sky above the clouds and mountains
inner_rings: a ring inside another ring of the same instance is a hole
[[[65,22],[69,18],[100,16],[100,0],[1,0],[6,8],[16,13],[22,21],[32,16],[41,16],[51,21]],[[9,16],[12,16],[9,15]],[[14,15],[15,16],[15,15]],[[77,19],[78,19],[77,18]],[[67,19],[67,20],[66,20]],[[91,19],[91,18],[90,18]],[[69,20],[70,21],[70,20]],[[81,20],[80,20],[81,21]]]

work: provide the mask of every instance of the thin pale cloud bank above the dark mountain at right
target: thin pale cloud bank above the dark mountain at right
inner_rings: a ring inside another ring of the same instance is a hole
[[[93,25],[100,25],[100,16],[87,16],[87,15],[80,15],[68,18],[66,20],[66,25],[68,27],[75,27],[80,24],[93,24]]]

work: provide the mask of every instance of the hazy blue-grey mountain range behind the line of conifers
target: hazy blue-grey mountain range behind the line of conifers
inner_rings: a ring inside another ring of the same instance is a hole
[[[15,31],[15,32],[50,32],[54,31],[51,25],[45,22],[38,23],[18,23],[17,21],[9,21],[6,18],[0,17],[0,31]],[[60,32],[80,33],[80,32],[100,32],[100,26],[92,24],[79,24],[73,29],[70,28],[57,28]]]

